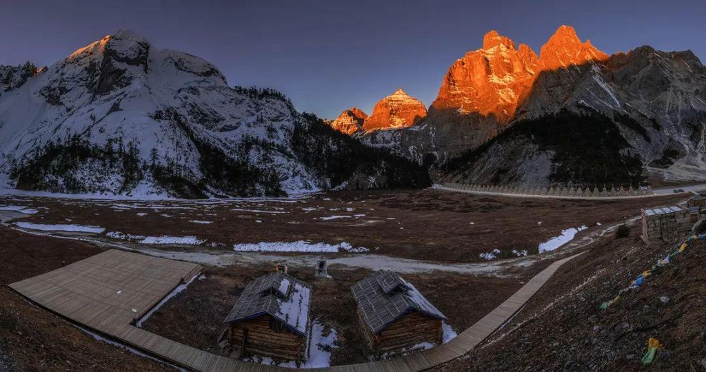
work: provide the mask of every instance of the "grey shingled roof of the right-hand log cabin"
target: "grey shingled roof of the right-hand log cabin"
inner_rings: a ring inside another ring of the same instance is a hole
[[[446,319],[414,285],[388,270],[377,271],[353,284],[351,292],[373,333],[384,330],[412,311],[431,318]]]

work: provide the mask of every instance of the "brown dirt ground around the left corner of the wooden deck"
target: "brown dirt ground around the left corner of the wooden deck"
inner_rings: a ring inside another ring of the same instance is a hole
[[[167,365],[96,341],[6,286],[102,250],[0,226],[0,371],[164,371]]]

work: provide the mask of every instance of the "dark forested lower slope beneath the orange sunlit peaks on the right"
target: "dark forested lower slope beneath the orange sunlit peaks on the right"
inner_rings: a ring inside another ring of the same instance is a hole
[[[638,186],[642,163],[609,117],[561,111],[518,121],[441,173],[467,184]]]

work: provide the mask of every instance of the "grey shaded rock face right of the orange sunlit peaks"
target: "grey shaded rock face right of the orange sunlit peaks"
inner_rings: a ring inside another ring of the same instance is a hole
[[[640,47],[602,64],[545,71],[517,121],[567,110],[613,120],[647,170],[665,179],[706,179],[706,68],[691,52]]]

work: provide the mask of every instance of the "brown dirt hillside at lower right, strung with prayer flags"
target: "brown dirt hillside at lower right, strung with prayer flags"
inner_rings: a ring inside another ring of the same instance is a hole
[[[706,368],[706,243],[606,310],[599,306],[674,250],[632,237],[596,244],[563,267],[513,322],[437,371],[642,371],[647,340],[664,349],[659,371]]]

